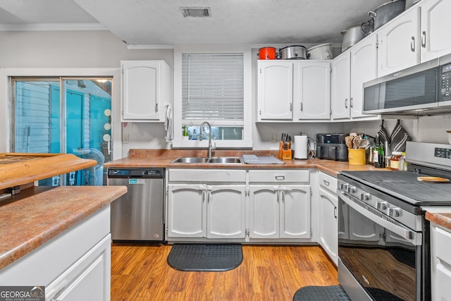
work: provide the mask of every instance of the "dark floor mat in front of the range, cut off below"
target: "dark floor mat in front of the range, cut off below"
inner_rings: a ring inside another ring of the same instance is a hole
[[[293,301],[350,301],[345,290],[340,285],[330,286],[304,286],[299,288],[293,297]]]

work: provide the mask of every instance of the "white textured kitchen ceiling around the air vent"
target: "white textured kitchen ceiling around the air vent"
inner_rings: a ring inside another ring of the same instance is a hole
[[[388,0],[1,0],[0,30],[98,25],[130,45],[340,43]],[[412,0],[407,0],[407,7]],[[184,18],[180,6],[211,8]]]

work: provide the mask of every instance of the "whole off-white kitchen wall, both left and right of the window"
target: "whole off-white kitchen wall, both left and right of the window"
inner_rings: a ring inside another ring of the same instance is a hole
[[[164,60],[173,67],[172,49],[129,50],[120,39],[108,31],[87,32],[0,32],[0,68],[120,68],[121,60]],[[253,49],[257,60],[258,49]],[[253,63],[253,74],[257,75]],[[171,73],[172,76],[172,73]],[[254,102],[257,102],[255,84],[252,89]],[[119,82],[114,83],[116,89]],[[118,100],[116,100],[118,102]],[[118,104],[113,104],[118,107]],[[9,150],[7,83],[0,82],[0,152]],[[164,140],[162,123],[126,123],[118,125],[119,112],[114,113],[116,133],[127,135],[128,143],[121,146],[122,156],[128,155],[130,148],[170,148]],[[254,115],[255,116],[255,115]],[[254,118],[254,117],[253,117]],[[254,120],[255,121],[255,120]],[[385,121],[389,134],[395,126],[395,120]],[[315,138],[316,133],[346,133],[355,131],[376,135],[381,121],[351,123],[253,123],[253,149],[271,149],[277,147],[271,143],[271,134],[280,137],[286,132],[290,135],[306,133]],[[447,143],[445,130],[451,130],[450,116],[421,117],[403,119],[401,124],[412,136],[412,140]],[[122,133],[118,133],[121,132]],[[118,137],[121,138],[121,137]],[[119,141],[121,139],[118,139]],[[115,145],[119,147],[119,145]]]

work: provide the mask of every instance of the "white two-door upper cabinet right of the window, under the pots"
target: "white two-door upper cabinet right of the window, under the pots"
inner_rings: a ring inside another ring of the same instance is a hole
[[[330,118],[330,62],[258,61],[257,116],[260,122]]]

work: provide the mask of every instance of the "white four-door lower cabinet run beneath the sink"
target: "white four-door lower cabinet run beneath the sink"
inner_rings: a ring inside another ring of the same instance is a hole
[[[314,242],[309,170],[169,169],[168,242]]]

